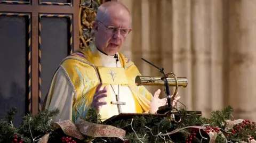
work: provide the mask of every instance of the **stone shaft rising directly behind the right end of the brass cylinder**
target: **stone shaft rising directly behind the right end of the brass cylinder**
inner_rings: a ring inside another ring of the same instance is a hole
[[[173,73],[178,77],[187,77],[188,86],[179,88],[180,101],[187,110],[193,110],[192,104],[192,55],[191,55],[191,1],[172,1],[172,31],[173,31]],[[180,107],[183,105],[179,104]]]

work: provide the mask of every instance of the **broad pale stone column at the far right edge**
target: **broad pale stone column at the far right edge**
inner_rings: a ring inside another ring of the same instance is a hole
[[[236,118],[255,120],[256,1],[229,5],[229,103]]]

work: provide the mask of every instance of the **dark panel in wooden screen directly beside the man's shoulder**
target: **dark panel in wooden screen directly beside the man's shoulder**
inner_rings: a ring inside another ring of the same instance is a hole
[[[73,51],[73,29],[69,15],[44,15],[39,22],[39,102],[42,106],[55,70]]]

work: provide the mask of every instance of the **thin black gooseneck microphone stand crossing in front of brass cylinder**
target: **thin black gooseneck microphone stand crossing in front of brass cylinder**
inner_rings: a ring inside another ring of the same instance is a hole
[[[164,73],[164,69],[158,68],[156,65],[154,65],[153,63],[150,63],[149,61],[145,60],[144,58],[141,58],[141,60],[145,61],[146,63],[150,64],[151,66],[154,66],[157,70],[159,70],[164,75],[164,77],[161,79],[164,81],[164,86],[165,86],[165,90],[166,90],[166,98],[167,98],[167,103],[166,103],[167,106],[165,105],[165,106],[159,107],[157,113],[165,114],[166,112],[172,111],[173,107],[172,107],[169,83],[167,81],[167,76]]]

